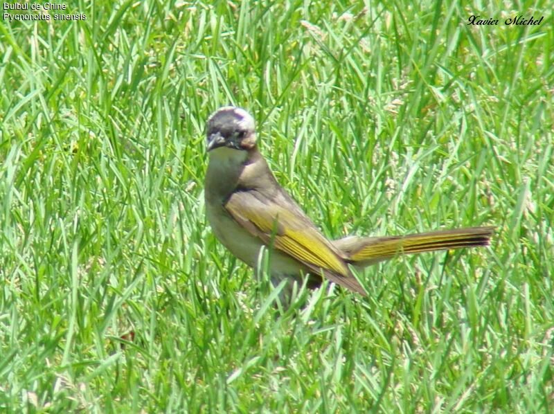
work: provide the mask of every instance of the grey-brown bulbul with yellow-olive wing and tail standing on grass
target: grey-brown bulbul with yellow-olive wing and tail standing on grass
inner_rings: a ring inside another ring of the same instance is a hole
[[[206,123],[206,217],[235,257],[257,269],[270,252],[274,286],[282,280],[315,289],[324,279],[366,296],[352,273],[398,255],[488,246],[494,226],[384,237],[329,240],[281,187],[258,149],[253,116],[240,107],[217,109]]]

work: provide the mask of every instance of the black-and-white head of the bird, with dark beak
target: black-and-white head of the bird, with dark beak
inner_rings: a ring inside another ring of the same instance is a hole
[[[217,109],[206,125],[206,149],[226,147],[248,151],[256,147],[254,118],[242,108],[222,107]]]

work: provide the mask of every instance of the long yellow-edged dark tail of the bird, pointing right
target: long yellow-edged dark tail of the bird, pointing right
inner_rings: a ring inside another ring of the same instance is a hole
[[[356,267],[366,267],[397,255],[488,246],[493,232],[492,226],[470,227],[406,236],[350,236],[334,240],[333,244]]]

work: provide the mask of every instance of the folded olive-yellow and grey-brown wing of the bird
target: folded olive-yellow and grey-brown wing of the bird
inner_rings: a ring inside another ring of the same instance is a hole
[[[224,207],[238,224],[268,246],[273,244],[314,273],[365,295],[339,251],[296,205],[287,208],[261,192],[245,190],[234,192]]]

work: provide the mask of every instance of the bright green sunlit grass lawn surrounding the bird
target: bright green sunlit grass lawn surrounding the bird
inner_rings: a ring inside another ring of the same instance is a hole
[[[553,3],[518,4],[2,21],[1,411],[552,411]],[[492,246],[280,314],[204,217],[204,123],[229,103],[329,237],[494,224]]]

